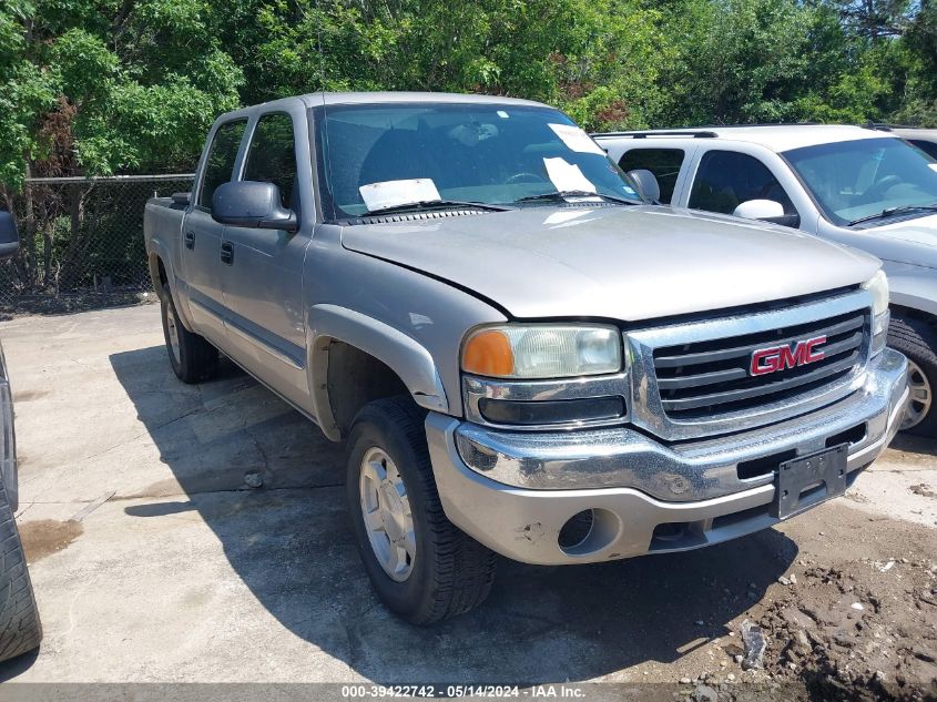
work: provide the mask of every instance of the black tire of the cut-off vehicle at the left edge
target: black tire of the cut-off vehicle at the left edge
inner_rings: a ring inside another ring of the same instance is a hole
[[[2,482],[0,480],[0,661],[6,661],[39,647],[42,622],[20,532]]]

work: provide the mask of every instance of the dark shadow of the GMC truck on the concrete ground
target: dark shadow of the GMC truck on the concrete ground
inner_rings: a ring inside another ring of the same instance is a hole
[[[163,347],[110,360],[173,472],[125,513],[197,512],[271,614],[377,682],[532,684],[672,662],[724,635],[726,622],[796,558],[795,543],[768,530],[702,551],[597,566],[502,560],[485,606],[414,628],[380,606],[358,561],[342,446],[233,365],[217,380],[186,387]],[[259,472],[264,487],[248,489],[247,472]]]

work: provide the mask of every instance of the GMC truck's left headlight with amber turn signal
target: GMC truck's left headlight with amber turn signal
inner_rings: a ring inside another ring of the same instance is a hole
[[[462,370],[493,378],[568,378],[621,369],[614,327],[531,324],[476,329],[462,345]]]

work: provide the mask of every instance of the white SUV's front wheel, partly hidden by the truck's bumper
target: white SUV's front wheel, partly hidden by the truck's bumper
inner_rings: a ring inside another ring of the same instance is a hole
[[[910,398],[902,431],[937,437],[937,411],[934,409],[934,388],[937,387],[937,330],[923,319],[892,317],[888,346],[908,357]]]

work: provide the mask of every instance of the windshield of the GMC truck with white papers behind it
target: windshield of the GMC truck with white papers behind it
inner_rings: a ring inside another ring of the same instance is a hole
[[[537,206],[550,193],[641,202],[595,142],[548,108],[328,105],[316,125],[326,218],[440,201]]]

